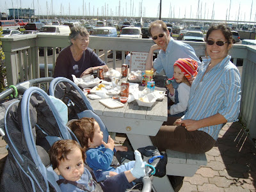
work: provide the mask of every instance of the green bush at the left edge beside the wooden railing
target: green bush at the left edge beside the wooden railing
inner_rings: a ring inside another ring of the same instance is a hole
[[[0,36],[3,34],[3,28],[0,28]],[[2,49],[2,42],[0,40],[0,92],[5,90],[6,84],[6,67],[4,63],[5,57]]]

